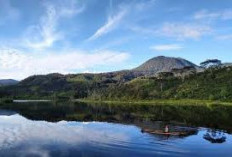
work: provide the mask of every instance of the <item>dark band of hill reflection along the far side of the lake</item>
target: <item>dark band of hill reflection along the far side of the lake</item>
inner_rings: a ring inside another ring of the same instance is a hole
[[[231,106],[201,105],[133,105],[84,103],[14,103],[2,104],[1,109],[12,110],[32,120],[57,122],[103,121],[135,124],[141,128],[165,125],[206,127],[232,132]],[[151,124],[156,122],[156,124]],[[158,128],[157,128],[158,129]]]

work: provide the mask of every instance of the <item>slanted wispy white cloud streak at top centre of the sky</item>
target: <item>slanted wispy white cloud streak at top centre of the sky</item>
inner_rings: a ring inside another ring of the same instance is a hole
[[[109,16],[107,22],[101,28],[99,28],[94,33],[94,35],[92,35],[88,40],[95,40],[101,37],[102,35],[107,34],[110,31],[114,30],[119,25],[119,23],[121,22],[121,20],[125,15],[126,15],[126,9],[121,8],[116,15]]]

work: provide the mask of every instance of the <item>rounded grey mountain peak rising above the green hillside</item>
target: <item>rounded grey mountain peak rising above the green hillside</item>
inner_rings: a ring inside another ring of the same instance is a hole
[[[182,58],[158,56],[146,61],[139,67],[133,69],[133,71],[145,75],[154,75],[159,72],[171,72],[172,69],[182,69],[185,67],[199,68],[194,63]]]

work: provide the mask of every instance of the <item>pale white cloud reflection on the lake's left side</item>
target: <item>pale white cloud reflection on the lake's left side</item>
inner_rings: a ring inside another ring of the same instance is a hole
[[[90,142],[107,144],[112,143],[115,139],[119,141],[130,140],[126,132],[119,132],[118,128],[117,124],[109,125],[98,122],[61,121],[51,123],[28,120],[19,114],[0,116],[0,151],[25,143],[30,143],[30,145],[38,145],[38,143],[39,145],[50,143],[81,145]],[[126,129],[126,126],[120,126],[120,129]],[[29,149],[29,151],[36,153],[36,150]]]

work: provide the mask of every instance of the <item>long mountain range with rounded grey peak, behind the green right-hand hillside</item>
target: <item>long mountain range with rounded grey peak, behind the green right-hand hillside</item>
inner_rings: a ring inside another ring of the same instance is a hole
[[[48,74],[34,75],[20,81],[15,86],[0,89],[0,94],[8,94],[19,97],[41,97],[51,95],[70,96],[76,98],[93,95],[97,89],[121,85],[133,79],[151,75],[162,71],[171,71],[173,68],[184,68],[187,66],[197,67],[195,64],[181,59],[171,57],[155,57],[145,62],[138,68],[116,72],[99,74]],[[16,82],[13,82],[16,83]]]

